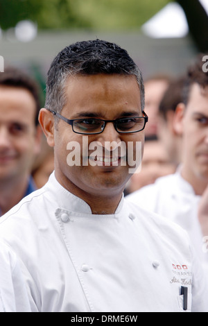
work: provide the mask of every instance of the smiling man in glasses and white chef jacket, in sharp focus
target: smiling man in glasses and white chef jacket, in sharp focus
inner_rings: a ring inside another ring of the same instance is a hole
[[[141,72],[120,46],[77,42],[53,60],[40,124],[55,171],[0,221],[31,311],[208,311],[187,233],[123,198],[147,120]]]

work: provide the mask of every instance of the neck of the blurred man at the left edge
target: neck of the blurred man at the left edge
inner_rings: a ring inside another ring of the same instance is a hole
[[[6,214],[24,197],[28,187],[28,175],[11,180],[0,180],[0,209],[1,215]]]

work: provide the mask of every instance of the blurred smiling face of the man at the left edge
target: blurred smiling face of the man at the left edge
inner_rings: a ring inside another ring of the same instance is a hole
[[[30,173],[37,150],[34,121],[30,92],[0,86],[0,182]]]

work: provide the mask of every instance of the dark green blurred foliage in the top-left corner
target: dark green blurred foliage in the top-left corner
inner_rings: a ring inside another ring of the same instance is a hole
[[[20,20],[31,19],[39,28],[90,27],[90,20],[80,19],[72,3],[73,0],[0,0],[0,26],[6,30]]]

